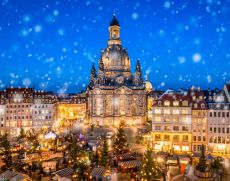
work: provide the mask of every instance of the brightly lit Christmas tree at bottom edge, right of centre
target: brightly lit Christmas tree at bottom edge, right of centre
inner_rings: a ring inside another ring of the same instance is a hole
[[[141,167],[141,180],[143,181],[154,181],[160,178],[160,171],[157,163],[153,160],[153,152],[150,148],[144,154]]]

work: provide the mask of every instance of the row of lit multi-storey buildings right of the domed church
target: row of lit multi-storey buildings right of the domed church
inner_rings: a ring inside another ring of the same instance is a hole
[[[154,150],[230,153],[230,85],[167,90],[152,104]]]

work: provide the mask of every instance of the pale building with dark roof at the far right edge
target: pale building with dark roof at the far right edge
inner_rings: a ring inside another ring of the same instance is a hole
[[[215,153],[230,153],[230,84],[223,90],[206,90],[208,106],[208,150]]]

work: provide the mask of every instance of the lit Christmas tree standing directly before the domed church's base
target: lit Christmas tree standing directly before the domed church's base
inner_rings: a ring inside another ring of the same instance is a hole
[[[124,131],[124,123],[121,122],[119,128],[117,128],[117,134],[113,144],[113,152],[114,154],[122,154],[126,152],[126,148],[127,148],[127,137]]]

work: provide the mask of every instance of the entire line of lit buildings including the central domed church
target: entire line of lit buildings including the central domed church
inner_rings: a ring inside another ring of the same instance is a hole
[[[142,78],[140,61],[131,61],[122,47],[120,25],[109,25],[107,47],[94,64],[84,96],[58,97],[50,92],[9,88],[0,92],[0,133],[15,136],[25,129],[71,129],[76,120],[98,126],[127,126],[152,122],[155,150],[230,152],[230,85],[223,90],[152,91]]]

